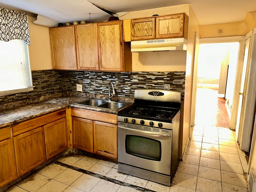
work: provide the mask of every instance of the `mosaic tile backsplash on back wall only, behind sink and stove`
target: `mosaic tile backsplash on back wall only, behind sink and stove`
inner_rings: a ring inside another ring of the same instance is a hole
[[[82,84],[83,92],[108,94],[108,82],[112,81],[118,96],[133,97],[137,88],[164,88],[182,92],[184,100],[185,72],[88,72],[66,71],[66,86],[76,92],[76,84]]]

